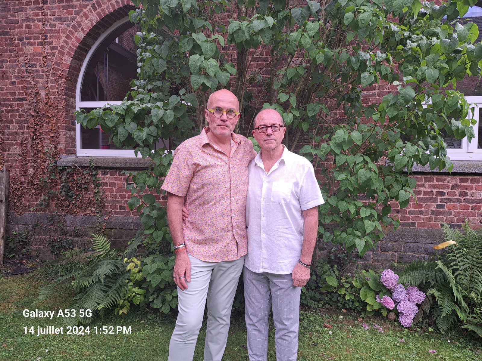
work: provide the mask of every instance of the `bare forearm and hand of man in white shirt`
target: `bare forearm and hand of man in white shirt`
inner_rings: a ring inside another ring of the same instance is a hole
[[[300,260],[303,263],[310,264],[313,257],[313,251],[316,244],[316,235],[318,233],[318,206],[303,211],[304,236],[303,246],[301,248]],[[292,279],[295,287],[303,287],[309,280],[309,269],[296,263],[293,269]]]

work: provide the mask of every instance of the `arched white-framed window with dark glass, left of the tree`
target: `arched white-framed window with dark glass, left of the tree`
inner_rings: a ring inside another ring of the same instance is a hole
[[[128,17],[114,23],[95,41],[80,68],[76,88],[76,110],[89,112],[107,104],[120,104],[137,77],[137,32]],[[100,126],[84,129],[76,125],[78,156],[135,156],[134,150],[118,149]]]

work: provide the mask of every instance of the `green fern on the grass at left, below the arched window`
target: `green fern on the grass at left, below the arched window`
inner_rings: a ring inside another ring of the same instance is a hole
[[[127,292],[129,273],[105,235],[92,235],[92,251],[75,249],[64,252],[40,270],[43,275],[53,272],[56,279],[40,288],[37,302],[67,289],[75,293],[71,299],[72,309],[92,310],[91,317],[64,318],[67,325],[90,322],[96,316],[103,316],[106,310],[117,306]]]

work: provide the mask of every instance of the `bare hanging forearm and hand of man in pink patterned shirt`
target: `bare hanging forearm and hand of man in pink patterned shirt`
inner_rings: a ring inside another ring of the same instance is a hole
[[[184,243],[184,234],[182,228],[182,206],[184,205],[184,197],[174,193],[167,193],[167,221],[173,244],[180,245]],[[186,247],[181,248],[176,254],[174,263],[174,283],[179,286],[181,291],[187,289],[186,282],[191,282],[191,262],[187,257]],[[185,277],[185,278],[179,278]]]

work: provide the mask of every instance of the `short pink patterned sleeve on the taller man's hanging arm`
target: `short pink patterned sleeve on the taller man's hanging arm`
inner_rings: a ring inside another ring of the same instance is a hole
[[[191,152],[187,147],[179,145],[174,151],[174,159],[169,172],[167,172],[161,189],[184,197],[189,189],[189,184],[194,174],[194,163]]]

